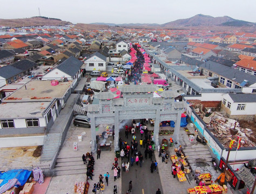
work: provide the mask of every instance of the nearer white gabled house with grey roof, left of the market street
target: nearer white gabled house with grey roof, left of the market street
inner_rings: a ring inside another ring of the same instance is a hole
[[[87,71],[106,71],[106,57],[99,52],[93,53],[84,61],[85,70]]]

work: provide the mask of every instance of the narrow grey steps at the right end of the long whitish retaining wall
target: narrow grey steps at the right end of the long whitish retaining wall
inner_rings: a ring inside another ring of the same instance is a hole
[[[51,161],[60,146],[60,133],[49,133],[45,137],[41,161]]]

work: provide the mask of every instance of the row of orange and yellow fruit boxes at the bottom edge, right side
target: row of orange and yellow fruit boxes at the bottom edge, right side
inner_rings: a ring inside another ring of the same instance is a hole
[[[225,186],[225,185],[224,185]],[[225,189],[217,184],[212,184],[208,186],[195,186],[194,188],[187,189],[188,194],[220,194],[226,193]]]

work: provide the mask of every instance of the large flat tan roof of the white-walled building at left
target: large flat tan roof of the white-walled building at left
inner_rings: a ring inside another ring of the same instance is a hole
[[[3,102],[33,102],[51,101],[54,98],[63,98],[73,81],[60,82],[52,86],[51,81],[32,80],[17,89],[14,93],[6,96]]]

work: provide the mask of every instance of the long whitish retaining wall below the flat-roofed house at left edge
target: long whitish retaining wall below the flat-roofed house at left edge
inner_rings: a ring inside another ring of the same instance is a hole
[[[0,138],[0,148],[43,145],[45,135]]]

